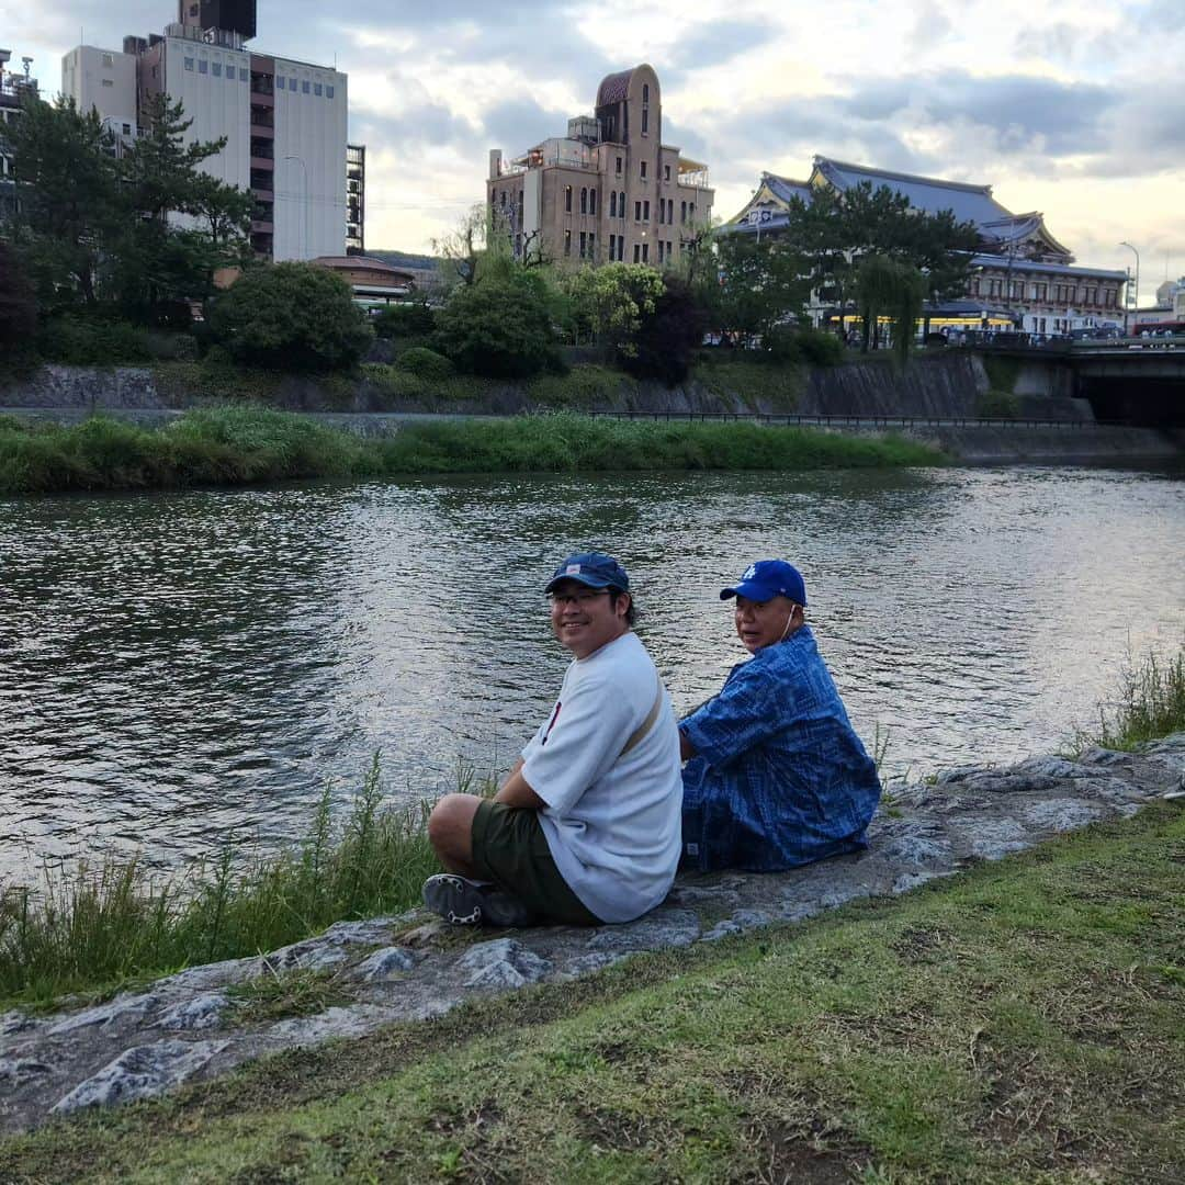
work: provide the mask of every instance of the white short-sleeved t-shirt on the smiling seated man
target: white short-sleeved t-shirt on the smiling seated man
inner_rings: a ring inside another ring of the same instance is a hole
[[[656,696],[658,718],[622,756]],[[604,922],[629,922],[658,905],[679,863],[679,730],[636,634],[572,661],[523,761],[527,784],[547,803],[539,821],[572,892]]]

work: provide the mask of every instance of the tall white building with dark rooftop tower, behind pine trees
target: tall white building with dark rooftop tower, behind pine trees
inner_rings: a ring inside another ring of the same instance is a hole
[[[123,52],[89,45],[62,60],[62,90],[134,136],[146,102],[167,94],[192,120],[186,142],[226,137],[201,168],[255,197],[251,245],[273,260],[341,255],[346,237],[346,76],[254,53],[255,4],[180,0],[161,36]],[[225,26],[225,27],[224,27]]]

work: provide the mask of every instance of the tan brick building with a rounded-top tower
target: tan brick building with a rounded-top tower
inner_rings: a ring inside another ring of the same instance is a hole
[[[662,142],[652,66],[606,77],[594,115],[506,160],[489,153],[486,200],[520,258],[578,267],[621,260],[674,265],[711,223],[707,166]]]

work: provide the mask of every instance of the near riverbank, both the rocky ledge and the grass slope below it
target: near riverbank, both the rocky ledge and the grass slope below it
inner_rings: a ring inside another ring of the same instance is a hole
[[[1179,741],[1160,751],[1178,776]],[[5,1126],[41,1120],[38,1083],[70,1120],[0,1144],[0,1177],[1178,1179],[1185,816],[1117,818],[1130,761],[1063,762],[1095,825],[1001,863],[979,860],[1025,846],[1017,822],[1085,821],[1053,767],[946,779],[860,860],[684,879],[648,925],[491,939],[380,920],[248,960],[262,979],[224,965],[5,1018]],[[935,879],[955,834],[994,848]],[[890,846],[923,891],[893,896],[910,884],[883,879]],[[287,1052],[226,1077],[249,1049]]]

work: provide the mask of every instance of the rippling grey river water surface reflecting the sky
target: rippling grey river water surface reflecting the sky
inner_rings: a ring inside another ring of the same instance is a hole
[[[782,555],[890,770],[1048,751],[1129,647],[1185,636],[1183,538],[1185,483],[1084,469],[0,501],[0,876],[300,835],[374,749],[417,798],[505,764],[566,661],[543,583],[591,546],[629,569],[683,710],[744,656],[719,588]]]

